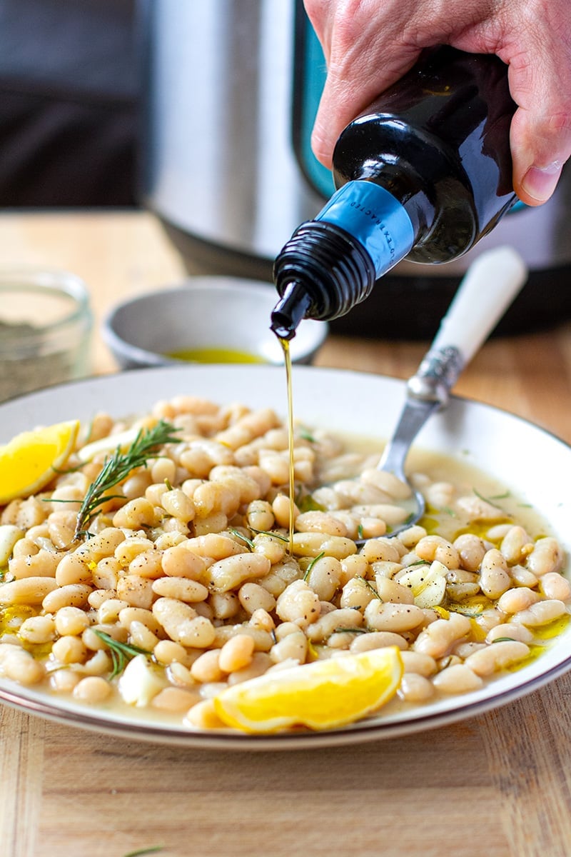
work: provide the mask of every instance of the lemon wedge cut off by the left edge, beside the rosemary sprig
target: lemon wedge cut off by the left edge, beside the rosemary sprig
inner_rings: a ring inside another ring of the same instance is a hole
[[[0,506],[47,485],[74,449],[79,428],[79,420],[69,420],[16,434],[0,446]]]

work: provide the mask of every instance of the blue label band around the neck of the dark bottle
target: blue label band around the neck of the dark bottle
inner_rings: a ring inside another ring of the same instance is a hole
[[[413,246],[413,225],[404,207],[388,190],[372,182],[344,184],[316,220],[340,226],[359,241],[381,277]]]

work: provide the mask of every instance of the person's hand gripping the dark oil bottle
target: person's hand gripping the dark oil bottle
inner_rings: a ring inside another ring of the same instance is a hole
[[[569,0],[304,0],[328,75],[312,134],[326,166],[342,129],[434,45],[496,53],[518,105],[511,125],[514,190],[549,199],[571,156]]]

